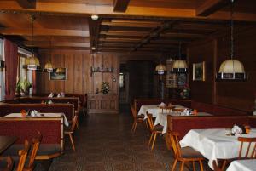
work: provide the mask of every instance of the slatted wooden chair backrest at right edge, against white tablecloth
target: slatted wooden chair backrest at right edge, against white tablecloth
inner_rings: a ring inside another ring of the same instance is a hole
[[[238,137],[238,141],[241,141],[240,150],[239,150],[239,158],[247,157],[247,158],[256,158],[256,137],[253,138],[245,138]],[[246,150],[246,153],[243,154]]]

